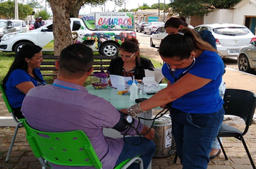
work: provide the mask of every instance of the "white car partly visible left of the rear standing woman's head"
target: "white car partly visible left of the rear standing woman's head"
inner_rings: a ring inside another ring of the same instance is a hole
[[[165,32],[165,26],[161,26],[155,31],[155,34],[150,36],[150,47],[160,46],[162,39],[164,39],[168,33]]]

